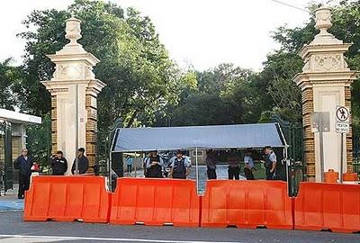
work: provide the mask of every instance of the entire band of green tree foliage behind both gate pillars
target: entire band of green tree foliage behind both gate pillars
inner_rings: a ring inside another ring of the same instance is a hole
[[[302,121],[301,91],[293,76],[302,71],[298,56],[303,44],[317,34],[311,5],[302,26],[281,26],[273,32],[280,49],[269,53],[263,70],[223,63],[198,71],[183,70],[169,58],[156,28],[135,9],[103,1],[76,0],[67,10],[33,11],[23,21],[28,31],[24,64],[0,63],[0,106],[49,114],[49,93],[40,84],[49,80],[54,66],[46,54],[66,43],[65,21],[75,15],[82,21],[79,42],[101,62],[94,68],[107,86],[99,94],[99,129],[121,117],[124,126],[184,126],[269,121],[277,113],[287,121]],[[342,1],[334,7],[330,31],[353,45],[347,63],[360,69],[360,1]],[[360,84],[352,85],[353,121],[360,124]],[[12,95],[13,94],[13,95]]]

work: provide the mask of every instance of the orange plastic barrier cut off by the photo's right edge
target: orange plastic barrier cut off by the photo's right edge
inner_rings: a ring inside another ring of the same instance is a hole
[[[295,229],[360,230],[360,185],[301,183],[295,198]]]

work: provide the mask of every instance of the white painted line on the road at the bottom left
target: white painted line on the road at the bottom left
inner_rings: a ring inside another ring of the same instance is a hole
[[[146,238],[97,238],[97,237],[69,237],[69,236],[31,236],[31,235],[0,235],[1,238],[33,238],[58,240],[103,240],[118,242],[151,242],[151,243],[241,243],[240,241],[202,241],[202,240],[173,240],[173,239],[146,239]]]

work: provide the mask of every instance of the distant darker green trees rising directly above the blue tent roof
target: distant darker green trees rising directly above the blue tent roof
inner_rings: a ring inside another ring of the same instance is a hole
[[[257,121],[257,75],[248,69],[221,64],[193,72],[196,82],[184,88],[180,101],[157,114],[156,126],[216,125]],[[194,78],[193,78],[194,80]],[[196,86],[195,86],[196,84]]]

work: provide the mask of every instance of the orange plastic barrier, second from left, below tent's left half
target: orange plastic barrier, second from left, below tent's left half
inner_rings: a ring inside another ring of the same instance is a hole
[[[200,198],[192,180],[119,178],[110,223],[199,226]]]

